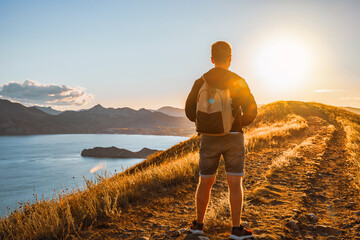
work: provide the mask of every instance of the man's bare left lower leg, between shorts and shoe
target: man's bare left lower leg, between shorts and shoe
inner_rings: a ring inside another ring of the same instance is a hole
[[[196,220],[198,223],[204,222],[204,216],[210,199],[210,190],[215,182],[214,177],[200,177],[196,191]]]

